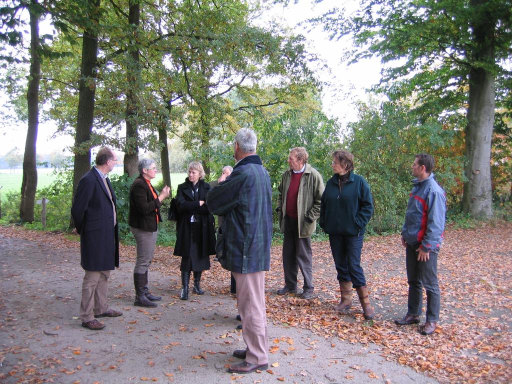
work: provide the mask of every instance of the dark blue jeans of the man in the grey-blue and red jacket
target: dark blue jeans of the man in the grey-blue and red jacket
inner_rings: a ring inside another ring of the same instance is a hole
[[[426,321],[439,322],[441,293],[437,282],[437,253],[430,252],[429,260],[418,261],[419,244],[407,245],[406,268],[409,283],[407,312],[413,316],[421,315],[423,308],[423,288],[426,291]]]

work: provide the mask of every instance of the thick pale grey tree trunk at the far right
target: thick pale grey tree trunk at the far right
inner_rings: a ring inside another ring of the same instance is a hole
[[[494,29],[495,23],[490,15],[482,12],[486,0],[472,0],[476,7],[473,23],[474,49],[471,61],[495,64]],[[495,78],[487,67],[472,67],[469,75],[469,101],[466,126],[466,165],[464,173],[464,196],[462,210],[474,218],[493,217],[493,196],[490,179],[490,146],[493,136],[495,114]]]

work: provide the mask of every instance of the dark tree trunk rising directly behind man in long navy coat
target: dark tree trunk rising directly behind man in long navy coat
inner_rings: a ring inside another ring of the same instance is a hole
[[[73,152],[73,197],[81,177],[91,168],[91,133],[94,124],[94,96],[96,93],[96,65],[98,59],[98,32],[100,0],[89,2],[91,26],[83,32],[82,62],[80,66],[80,86],[78,96],[78,117],[76,122],[75,146]],[[70,228],[73,228],[71,218]]]

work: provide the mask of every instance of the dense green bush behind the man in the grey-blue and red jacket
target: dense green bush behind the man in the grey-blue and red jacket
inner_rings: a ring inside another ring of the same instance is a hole
[[[347,140],[355,172],[372,189],[374,214],[368,233],[396,232],[403,224],[411,190],[411,165],[418,153],[436,160],[434,173],[446,191],[449,212],[460,211],[463,145],[461,132],[436,121],[418,121],[407,105],[384,103],[380,109],[359,105],[359,121]]]

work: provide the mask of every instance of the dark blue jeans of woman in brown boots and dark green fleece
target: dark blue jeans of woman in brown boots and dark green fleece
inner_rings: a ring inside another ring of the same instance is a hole
[[[351,281],[354,288],[366,286],[361,267],[362,236],[329,235],[338,281]]]

